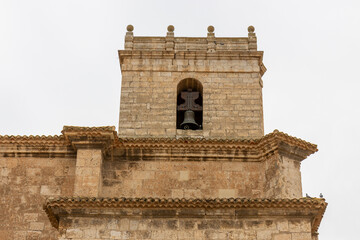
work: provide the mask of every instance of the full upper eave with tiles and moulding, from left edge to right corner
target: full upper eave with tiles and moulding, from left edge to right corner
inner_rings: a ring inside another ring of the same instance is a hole
[[[317,151],[315,144],[278,130],[259,139],[119,138],[114,127],[65,126],[61,136],[0,136],[0,154],[9,157],[69,156],[83,147],[101,148],[105,156],[125,151],[130,160],[264,161],[281,154],[302,161]]]

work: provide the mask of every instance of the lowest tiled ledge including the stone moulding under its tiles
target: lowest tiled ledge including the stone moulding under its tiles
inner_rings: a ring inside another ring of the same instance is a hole
[[[311,218],[311,232],[320,225],[327,203],[323,198],[268,199],[160,199],[160,198],[56,198],[44,204],[53,227],[59,228],[61,218],[68,216],[145,216],[234,218],[279,216]],[[219,211],[220,210],[220,211]]]

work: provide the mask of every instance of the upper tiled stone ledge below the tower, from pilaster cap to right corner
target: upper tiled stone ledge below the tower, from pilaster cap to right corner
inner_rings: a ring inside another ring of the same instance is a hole
[[[114,146],[127,160],[264,161],[273,154],[302,161],[315,144],[275,130],[260,139],[119,138]]]

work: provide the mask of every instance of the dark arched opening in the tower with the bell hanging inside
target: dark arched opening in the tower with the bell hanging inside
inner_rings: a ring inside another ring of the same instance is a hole
[[[203,86],[199,80],[183,79],[177,86],[176,128],[203,128]]]

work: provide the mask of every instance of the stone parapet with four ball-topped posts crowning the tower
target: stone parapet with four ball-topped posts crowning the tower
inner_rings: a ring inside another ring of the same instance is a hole
[[[207,37],[174,37],[174,26],[168,27],[166,37],[136,37],[129,25],[125,37],[125,50],[147,51],[256,51],[256,34],[248,27],[248,37],[218,38],[213,26],[208,27]]]

